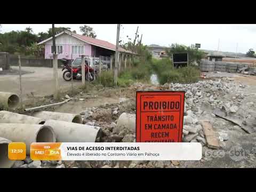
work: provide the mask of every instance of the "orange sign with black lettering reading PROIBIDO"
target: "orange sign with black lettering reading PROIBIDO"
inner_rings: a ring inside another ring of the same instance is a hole
[[[181,142],[184,91],[136,92],[136,141]]]

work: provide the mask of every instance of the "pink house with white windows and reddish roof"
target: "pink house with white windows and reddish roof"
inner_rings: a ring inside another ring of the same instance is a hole
[[[41,44],[45,45],[45,59],[52,59],[52,37],[38,43],[38,45]],[[110,55],[115,54],[116,50],[116,45],[107,41],[78,35],[69,31],[63,31],[55,35],[55,45],[58,53],[58,59],[75,59],[81,57],[81,54],[90,57],[110,57]],[[132,54],[131,51],[127,51],[121,47],[119,47],[119,53],[125,55]]]

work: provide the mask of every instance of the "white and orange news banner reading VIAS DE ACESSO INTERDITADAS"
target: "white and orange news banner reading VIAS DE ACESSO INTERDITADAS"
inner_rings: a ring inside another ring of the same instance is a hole
[[[199,161],[197,142],[32,143],[30,158],[41,161]]]

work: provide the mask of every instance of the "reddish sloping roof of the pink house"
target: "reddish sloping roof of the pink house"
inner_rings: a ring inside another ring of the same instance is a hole
[[[107,49],[107,50],[116,51],[116,45],[114,45],[112,43],[109,43],[107,41],[103,41],[103,40],[100,40],[100,39],[95,39],[95,38],[92,38],[92,37],[87,37],[87,36],[84,36],[84,35],[71,33],[70,31],[63,31],[63,32],[55,35],[55,37],[58,37],[58,36],[62,35],[63,33],[74,36],[77,39],[79,39],[79,40],[81,40],[85,43],[89,43],[91,45],[99,46],[99,47],[102,47],[102,48]],[[52,39],[52,37],[47,38],[44,41],[38,43],[38,45],[44,44],[45,42],[50,41],[51,39]],[[127,51],[127,50],[123,49],[122,47],[119,47],[118,51],[123,52],[123,53],[128,53],[128,54],[136,54],[136,53],[133,53],[131,51]]]

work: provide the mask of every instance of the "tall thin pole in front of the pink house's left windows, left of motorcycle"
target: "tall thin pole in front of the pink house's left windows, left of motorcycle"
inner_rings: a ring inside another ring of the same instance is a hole
[[[52,45],[53,45],[53,81],[55,82],[55,99],[59,99],[59,82],[58,82],[58,55],[56,54],[55,45],[55,28],[52,24]]]

